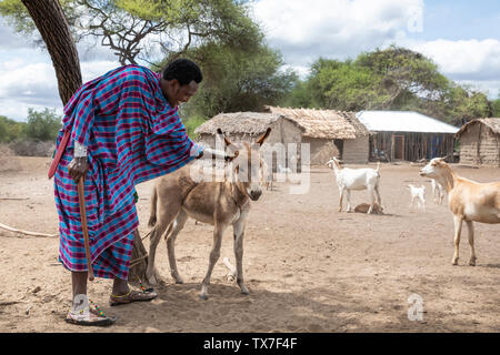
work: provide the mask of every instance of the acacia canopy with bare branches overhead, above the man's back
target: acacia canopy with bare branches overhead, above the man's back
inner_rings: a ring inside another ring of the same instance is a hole
[[[160,52],[176,58],[192,45],[222,41],[248,45],[258,27],[243,1],[232,0],[60,0],[74,41],[100,40],[120,64],[137,64]],[[0,14],[18,32],[36,33],[20,0],[0,2]],[[34,43],[43,41],[34,39]]]

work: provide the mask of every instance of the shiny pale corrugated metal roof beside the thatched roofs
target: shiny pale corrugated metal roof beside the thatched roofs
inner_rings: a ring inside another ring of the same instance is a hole
[[[457,133],[459,128],[413,111],[360,111],[359,121],[373,132]]]

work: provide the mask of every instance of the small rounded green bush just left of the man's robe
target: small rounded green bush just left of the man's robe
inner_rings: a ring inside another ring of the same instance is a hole
[[[26,135],[34,141],[56,140],[61,128],[61,116],[56,114],[56,110],[44,109],[37,112],[28,109],[28,124]]]

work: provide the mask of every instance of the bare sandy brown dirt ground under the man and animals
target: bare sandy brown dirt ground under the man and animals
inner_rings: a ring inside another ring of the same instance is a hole
[[[11,158],[0,164],[0,223],[58,233],[50,159]],[[9,169],[9,165],[10,168]],[[356,166],[356,165],[354,165]],[[13,169],[13,170],[12,170]],[[462,176],[500,180],[500,169],[453,166]],[[164,243],[157,267],[163,284],[150,303],[110,307],[111,281],[89,285],[89,297],[118,322],[106,332],[499,332],[500,225],[476,223],[478,264],[468,266],[467,230],[459,266],[451,265],[453,223],[430,196],[430,181],[409,164],[381,166],[384,215],[337,212],[333,171],[313,169],[307,194],[276,183],[252,203],[243,268],[250,295],[227,281],[234,262],[232,231],[209,288],[199,298],[212,227],[188,221],[177,242],[184,284],[170,277]],[[426,212],[410,211],[407,184],[427,186]],[[149,231],[152,182],[138,186],[140,232]],[[19,199],[19,200],[16,200]],[[356,206],[368,202],[353,192]],[[58,262],[58,237],[0,230],[0,332],[96,332],[63,322],[71,304],[70,273]],[[144,241],[149,246],[149,240]],[[410,321],[420,300],[422,320]]]

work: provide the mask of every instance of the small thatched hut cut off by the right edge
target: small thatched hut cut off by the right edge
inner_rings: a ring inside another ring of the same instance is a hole
[[[460,141],[460,163],[500,166],[500,119],[476,119],[456,134]]]

